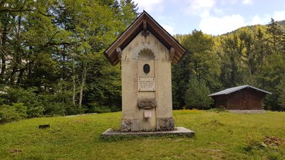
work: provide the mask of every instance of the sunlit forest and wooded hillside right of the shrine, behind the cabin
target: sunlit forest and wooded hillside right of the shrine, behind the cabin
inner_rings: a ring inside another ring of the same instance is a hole
[[[268,25],[246,26],[222,36],[194,30],[176,35],[189,52],[173,67],[174,108],[207,109],[210,93],[239,85],[272,92],[266,110],[285,110],[285,26],[271,18]]]

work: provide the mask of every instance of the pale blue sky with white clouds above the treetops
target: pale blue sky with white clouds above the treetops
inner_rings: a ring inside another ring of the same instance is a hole
[[[284,0],[133,0],[171,35],[197,29],[221,35],[242,26],[285,20]]]

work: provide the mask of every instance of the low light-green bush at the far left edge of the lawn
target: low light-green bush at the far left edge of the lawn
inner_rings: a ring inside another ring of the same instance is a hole
[[[26,107],[23,103],[0,106],[0,124],[17,121],[26,117]]]

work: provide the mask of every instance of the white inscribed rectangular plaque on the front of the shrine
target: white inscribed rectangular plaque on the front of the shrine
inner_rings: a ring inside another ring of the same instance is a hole
[[[138,78],[138,91],[155,91],[155,78]]]

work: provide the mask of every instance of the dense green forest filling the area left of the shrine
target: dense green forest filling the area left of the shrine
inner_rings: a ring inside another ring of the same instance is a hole
[[[120,110],[103,51],[137,16],[132,0],[0,1],[0,123]]]

